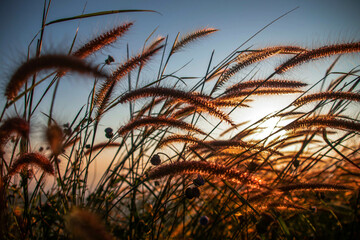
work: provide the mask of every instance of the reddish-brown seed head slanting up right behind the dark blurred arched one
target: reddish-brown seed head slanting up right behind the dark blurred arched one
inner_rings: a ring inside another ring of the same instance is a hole
[[[79,48],[73,53],[73,56],[78,58],[86,58],[90,54],[100,50],[101,48],[115,42],[119,37],[123,36],[129,28],[133,25],[132,22],[124,23],[118,27],[111,29],[110,31],[101,34],[95,39],[92,39],[84,46]]]

